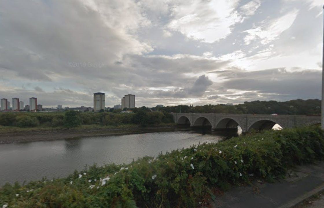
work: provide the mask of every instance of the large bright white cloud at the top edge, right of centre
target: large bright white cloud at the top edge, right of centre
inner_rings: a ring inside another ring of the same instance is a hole
[[[189,0],[171,9],[168,28],[188,38],[212,43],[231,33],[231,27],[241,21],[235,10],[238,0]]]

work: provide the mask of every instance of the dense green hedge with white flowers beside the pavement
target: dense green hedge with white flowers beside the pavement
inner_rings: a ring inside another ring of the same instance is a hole
[[[319,126],[265,131],[144,157],[128,165],[92,166],[53,181],[6,184],[8,207],[200,207],[213,190],[285,176],[294,165],[324,159]]]

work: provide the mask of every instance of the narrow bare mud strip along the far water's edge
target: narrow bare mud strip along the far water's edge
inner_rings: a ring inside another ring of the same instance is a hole
[[[31,131],[19,133],[5,133],[0,136],[1,144],[34,142],[34,141],[51,141],[59,139],[73,139],[79,137],[104,137],[117,136],[126,134],[141,134],[153,132],[168,132],[178,130],[187,130],[175,126],[161,127],[140,127],[140,128],[116,128],[116,129],[87,129],[87,130],[52,130],[52,131]]]

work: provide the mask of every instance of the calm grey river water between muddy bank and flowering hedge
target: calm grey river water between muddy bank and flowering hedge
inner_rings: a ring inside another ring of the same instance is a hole
[[[172,149],[217,142],[220,135],[173,131],[0,145],[0,186],[64,177],[85,165],[130,163]]]

